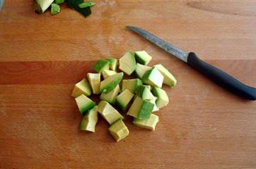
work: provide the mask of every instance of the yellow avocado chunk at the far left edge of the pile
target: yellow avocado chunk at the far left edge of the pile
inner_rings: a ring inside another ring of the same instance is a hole
[[[91,95],[90,84],[86,79],[83,79],[80,82],[75,84],[75,87],[73,89],[71,96],[77,97],[77,96],[80,96],[81,94],[84,94],[86,96]]]

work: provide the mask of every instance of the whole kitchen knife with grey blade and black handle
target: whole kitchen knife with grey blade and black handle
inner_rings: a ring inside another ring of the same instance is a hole
[[[254,87],[249,87],[248,85],[239,82],[231,75],[224,73],[219,68],[202,61],[196,54],[194,54],[194,52],[183,51],[182,49],[173,46],[173,44],[165,42],[163,39],[156,37],[155,35],[139,27],[127,26],[127,29],[136,32],[164,51],[167,51],[169,54],[172,54],[173,56],[180,58],[180,60],[185,61],[185,63],[192,66],[192,68],[198,70],[199,73],[209,77],[211,80],[221,85],[221,87],[233,92],[233,94],[248,100],[254,101],[256,99],[256,89]]]

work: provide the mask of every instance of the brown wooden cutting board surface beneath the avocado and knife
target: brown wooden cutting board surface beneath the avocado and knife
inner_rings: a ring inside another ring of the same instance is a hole
[[[125,29],[159,37],[256,86],[256,1],[96,1],[37,15],[32,0],[0,12],[0,168],[256,168],[256,104],[226,92]],[[155,132],[132,125],[116,143],[100,118],[78,131],[74,83],[98,58],[146,50],[177,77]]]

